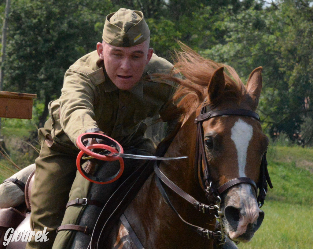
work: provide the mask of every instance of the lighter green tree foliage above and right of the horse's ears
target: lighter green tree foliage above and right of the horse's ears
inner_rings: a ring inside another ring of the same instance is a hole
[[[219,24],[225,30],[225,44],[203,51],[233,66],[242,77],[263,66],[259,111],[273,136],[284,132],[294,138],[312,111],[308,109],[313,98],[312,13],[312,1],[306,0],[264,6],[255,2],[236,15],[226,8]]]

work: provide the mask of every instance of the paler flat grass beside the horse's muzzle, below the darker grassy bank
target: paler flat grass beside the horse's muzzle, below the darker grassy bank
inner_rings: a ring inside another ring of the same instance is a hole
[[[262,210],[264,221],[249,243],[241,249],[313,248],[313,207],[279,201],[267,201]]]

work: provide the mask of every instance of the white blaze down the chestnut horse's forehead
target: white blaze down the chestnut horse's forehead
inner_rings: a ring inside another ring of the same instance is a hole
[[[246,167],[247,151],[252,138],[253,127],[239,119],[234,124],[231,132],[231,139],[234,141],[237,149],[239,177],[246,177],[244,169]]]

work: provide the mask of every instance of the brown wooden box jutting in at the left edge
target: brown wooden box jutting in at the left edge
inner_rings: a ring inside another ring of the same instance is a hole
[[[36,94],[0,91],[0,117],[31,119]]]

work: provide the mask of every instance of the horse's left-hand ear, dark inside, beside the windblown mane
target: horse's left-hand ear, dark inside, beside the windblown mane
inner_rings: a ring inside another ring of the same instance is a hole
[[[208,85],[209,101],[213,102],[215,98],[223,94],[225,89],[224,67],[220,67],[212,75]]]

